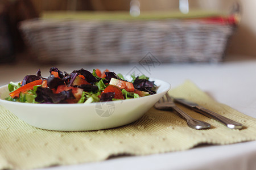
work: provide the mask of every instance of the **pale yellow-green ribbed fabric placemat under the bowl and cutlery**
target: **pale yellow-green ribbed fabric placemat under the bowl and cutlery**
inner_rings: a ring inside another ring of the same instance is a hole
[[[151,108],[142,118],[119,128],[63,132],[34,128],[0,107],[0,169],[31,169],[51,165],[96,162],[113,155],[148,155],[188,150],[201,143],[226,145],[256,139],[256,119],[217,103],[192,82],[170,94],[195,101],[245,125],[242,130],[226,128],[215,120],[181,107],[212,128],[194,130],[174,112]]]

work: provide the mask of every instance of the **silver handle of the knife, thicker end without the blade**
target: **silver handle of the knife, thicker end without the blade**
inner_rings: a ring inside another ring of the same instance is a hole
[[[204,107],[196,106],[195,108],[197,108],[197,109],[195,109],[195,111],[200,112],[201,114],[204,114],[205,116],[211,116],[211,117],[215,118],[216,120],[222,122],[222,124],[225,124],[230,129],[242,129],[243,125],[236,121],[233,121],[229,118],[221,116],[220,114],[210,111],[209,109],[206,109]]]

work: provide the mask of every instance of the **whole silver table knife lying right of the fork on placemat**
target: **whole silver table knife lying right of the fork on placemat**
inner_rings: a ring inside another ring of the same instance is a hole
[[[217,121],[220,121],[222,124],[226,125],[228,128],[230,129],[242,129],[243,125],[233,121],[229,118],[226,118],[224,116],[221,116],[220,114],[210,111],[209,109],[206,109],[204,107],[201,107],[200,105],[193,103],[191,101],[185,100],[185,99],[175,99],[174,101],[176,101],[177,103],[183,104],[186,107],[192,108],[193,111],[199,112],[201,114],[204,114],[204,116],[210,117],[210,118],[214,118]]]

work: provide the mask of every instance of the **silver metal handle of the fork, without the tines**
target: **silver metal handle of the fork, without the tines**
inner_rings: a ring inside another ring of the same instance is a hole
[[[178,112],[185,120],[187,120],[187,124],[190,128],[193,129],[205,129],[210,128],[210,124],[207,122],[203,122],[200,120],[196,120],[195,118],[189,116],[187,113],[183,112],[180,108],[174,106],[172,107],[176,112]]]

